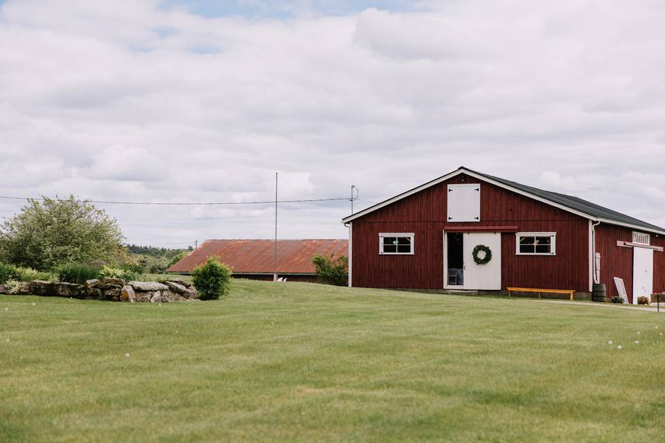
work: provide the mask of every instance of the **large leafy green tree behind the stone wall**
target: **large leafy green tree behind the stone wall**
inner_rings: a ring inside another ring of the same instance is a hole
[[[30,199],[0,226],[0,261],[35,269],[117,264],[127,254],[117,221],[89,201]]]

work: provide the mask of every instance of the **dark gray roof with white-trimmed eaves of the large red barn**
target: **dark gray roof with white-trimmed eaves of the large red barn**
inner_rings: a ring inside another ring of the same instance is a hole
[[[621,223],[620,221],[614,221],[614,220],[594,217],[592,215],[580,212],[580,211],[575,210],[573,208],[569,208],[568,206],[558,204],[558,203],[556,203],[554,201],[551,201],[551,200],[548,200],[548,199],[544,199],[542,197],[539,197],[538,195],[533,195],[530,192],[525,192],[523,190],[514,188],[513,186],[508,186],[508,185],[506,185],[506,183],[501,183],[499,181],[495,181],[495,180],[490,179],[488,177],[484,177],[484,176],[482,176],[480,174],[477,174],[476,172],[470,171],[466,168],[459,168],[458,170],[450,172],[450,174],[445,174],[443,177],[438,177],[438,179],[428,181],[424,185],[418,186],[417,188],[413,188],[411,190],[408,190],[407,192],[402,192],[402,194],[396,195],[395,197],[393,197],[391,199],[387,199],[385,201],[382,201],[379,204],[375,204],[374,206],[370,206],[369,208],[366,208],[366,209],[360,211],[360,213],[355,213],[353,215],[349,215],[348,217],[342,219],[342,223],[347,224],[347,223],[349,223],[349,222],[351,222],[355,219],[358,219],[360,217],[364,217],[365,215],[367,215],[369,213],[373,213],[375,210],[379,210],[381,208],[389,206],[389,205],[395,203],[396,201],[400,201],[401,199],[405,199],[407,197],[410,197],[411,195],[417,194],[418,192],[420,192],[422,190],[425,190],[427,188],[432,188],[432,186],[436,186],[439,183],[442,183],[446,180],[452,179],[453,177],[457,177],[458,175],[461,175],[461,174],[465,174],[465,175],[468,175],[469,177],[473,177],[475,179],[484,181],[486,183],[490,183],[494,186],[498,186],[499,188],[504,188],[506,190],[515,192],[516,194],[523,195],[524,197],[529,197],[530,199],[540,201],[540,202],[542,202],[544,204],[547,204],[549,206],[559,208],[560,210],[565,210],[568,213],[579,215],[580,217],[583,217],[585,219],[589,219],[589,220],[593,220],[593,221],[600,221],[601,223],[605,223],[605,224],[623,226],[623,227],[631,228],[631,229],[635,229],[635,230],[642,230],[642,231],[646,231],[646,232],[650,232],[650,233],[657,233],[657,234],[665,235],[665,231],[662,231],[662,230],[649,229],[649,228],[646,228],[644,226],[637,226],[637,225],[633,225],[633,224]]]

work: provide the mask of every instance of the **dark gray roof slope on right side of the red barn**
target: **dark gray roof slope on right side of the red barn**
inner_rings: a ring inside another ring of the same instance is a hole
[[[535,197],[540,197],[542,199],[549,200],[553,203],[560,204],[567,208],[576,210],[580,213],[585,213],[596,219],[615,221],[618,224],[635,225],[644,228],[646,230],[657,230],[660,232],[665,231],[665,228],[655,226],[653,224],[647,223],[646,221],[641,221],[639,219],[636,219],[635,217],[630,217],[630,215],[617,213],[617,211],[615,210],[603,208],[603,206],[598,206],[596,204],[591,203],[590,201],[586,201],[578,197],[573,197],[571,195],[559,194],[558,192],[551,192],[538,188],[533,188],[533,186],[526,186],[522,185],[521,183],[517,183],[515,181],[501,179],[499,177],[493,177],[491,175],[483,174],[482,172],[477,172],[474,170],[470,170],[468,168],[459,168],[459,169],[473,172],[474,174],[478,174],[479,176],[485,177],[486,179],[498,181],[499,183],[503,183],[504,185],[510,186],[511,188],[515,188],[517,190],[521,190],[528,194],[535,195]]]

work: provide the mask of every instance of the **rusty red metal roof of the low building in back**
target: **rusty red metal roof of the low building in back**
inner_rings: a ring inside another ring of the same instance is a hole
[[[201,246],[167,269],[191,272],[210,255],[220,257],[233,273],[274,273],[274,240],[206,240]],[[348,255],[346,239],[308,239],[277,241],[277,272],[314,274],[314,255]]]

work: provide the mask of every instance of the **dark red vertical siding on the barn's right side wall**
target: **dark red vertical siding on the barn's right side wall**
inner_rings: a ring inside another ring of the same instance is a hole
[[[618,295],[614,277],[623,279],[628,299],[632,300],[632,248],[617,246],[617,240],[632,242],[632,229],[601,224],[596,226],[596,252],[601,254],[600,282],[608,287],[608,297]],[[665,247],[665,237],[651,234],[653,246]],[[665,253],[653,253],[653,290],[665,291]]]

